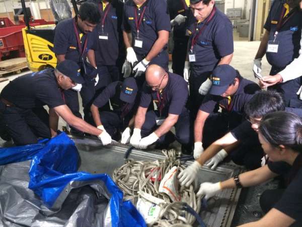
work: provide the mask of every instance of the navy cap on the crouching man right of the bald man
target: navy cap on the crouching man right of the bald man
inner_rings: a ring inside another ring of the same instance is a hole
[[[226,89],[233,83],[237,76],[236,70],[230,65],[217,66],[209,79],[212,81],[212,86],[209,94],[222,95]]]

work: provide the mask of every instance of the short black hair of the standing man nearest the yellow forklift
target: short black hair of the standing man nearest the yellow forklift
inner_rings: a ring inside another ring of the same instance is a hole
[[[98,24],[101,20],[99,8],[92,2],[85,2],[80,6],[79,16],[82,21],[88,21],[92,24]]]

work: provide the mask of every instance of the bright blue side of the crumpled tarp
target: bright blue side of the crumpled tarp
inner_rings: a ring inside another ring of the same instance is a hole
[[[104,182],[110,193],[111,226],[146,226],[143,217],[107,174],[77,172],[79,153],[73,141],[60,133],[38,144],[0,148],[1,165],[32,159],[29,188],[52,208],[70,182]]]

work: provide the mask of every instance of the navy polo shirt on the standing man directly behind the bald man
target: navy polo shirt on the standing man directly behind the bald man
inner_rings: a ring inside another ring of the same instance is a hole
[[[137,17],[140,18],[145,7],[143,20],[139,27],[139,38],[143,40],[142,48],[134,46],[134,37],[137,37],[135,25],[135,8],[137,9]],[[131,31],[132,47],[138,60],[144,58],[150,51],[155,41],[158,39],[158,32],[162,30],[171,31],[170,17],[167,9],[167,3],[163,0],[147,0],[141,7],[137,8],[133,0],[128,0],[124,5],[124,17],[122,29],[126,32]],[[166,52],[167,45],[164,47]]]

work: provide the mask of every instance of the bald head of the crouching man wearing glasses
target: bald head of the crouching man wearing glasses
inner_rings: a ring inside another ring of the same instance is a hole
[[[158,65],[150,65],[146,69],[146,82],[150,87],[158,88],[159,85],[161,85],[161,82],[163,82],[163,77],[166,75],[166,71],[158,66]],[[164,87],[166,86],[165,83],[162,83]],[[161,86],[163,87],[163,86]]]

